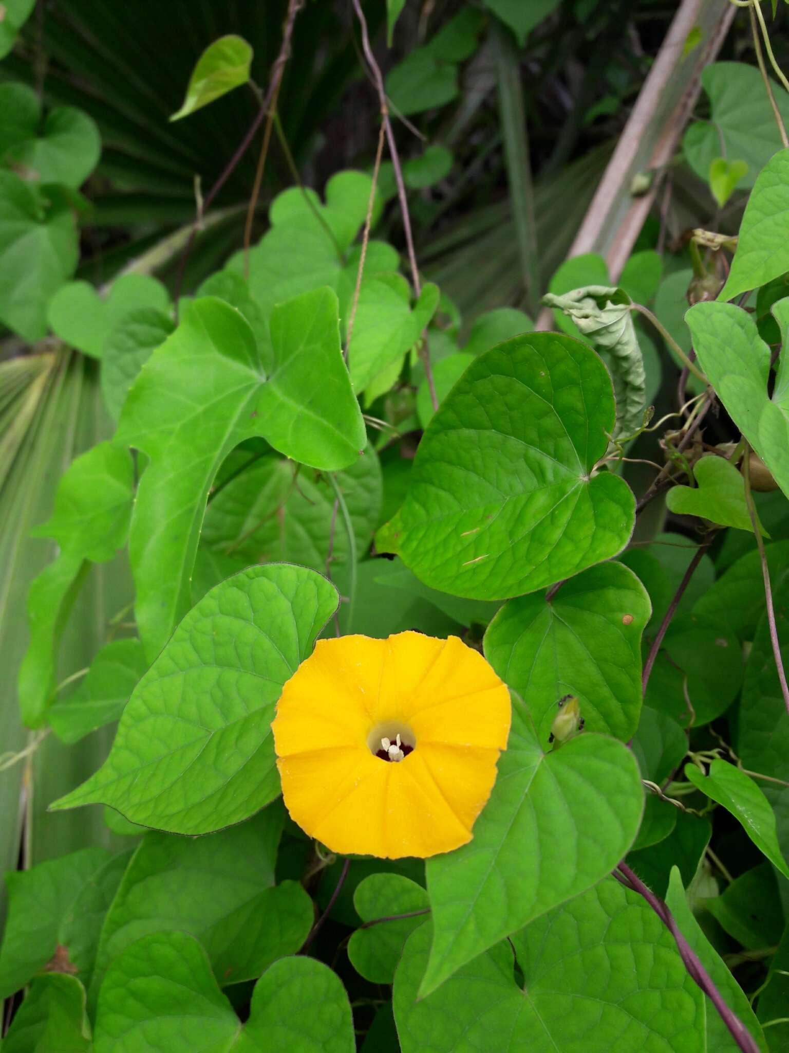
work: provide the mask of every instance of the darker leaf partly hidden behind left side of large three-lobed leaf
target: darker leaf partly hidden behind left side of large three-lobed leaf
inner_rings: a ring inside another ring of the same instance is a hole
[[[102,343],[101,394],[115,420],[121,415],[129,388],[157,347],[175,330],[165,311],[139,307],[129,311]]]

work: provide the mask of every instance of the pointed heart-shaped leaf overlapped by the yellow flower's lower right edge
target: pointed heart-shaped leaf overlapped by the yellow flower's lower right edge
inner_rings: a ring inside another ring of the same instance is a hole
[[[473,839],[427,862],[434,933],[422,994],[600,881],[635,839],[643,809],[639,769],[623,743],[584,734],[546,755],[515,704]]]

